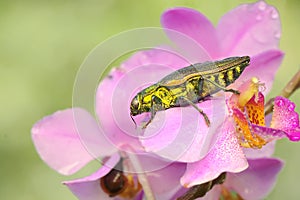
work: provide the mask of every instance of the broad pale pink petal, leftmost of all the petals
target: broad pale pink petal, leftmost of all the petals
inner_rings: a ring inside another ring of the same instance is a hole
[[[37,122],[31,132],[41,158],[65,175],[75,173],[95,157],[116,151],[107,143],[94,118],[80,108],[47,116]],[[93,154],[86,146],[95,150]]]

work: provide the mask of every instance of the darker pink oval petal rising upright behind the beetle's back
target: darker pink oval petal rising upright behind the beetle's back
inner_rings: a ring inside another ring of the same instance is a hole
[[[172,41],[188,51],[190,55],[194,55],[194,58],[198,57],[198,62],[210,60],[210,56],[217,57],[218,41],[215,28],[200,12],[190,8],[169,9],[163,13],[161,23]],[[185,34],[187,37],[184,38],[174,31]],[[193,40],[198,47],[193,44]]]

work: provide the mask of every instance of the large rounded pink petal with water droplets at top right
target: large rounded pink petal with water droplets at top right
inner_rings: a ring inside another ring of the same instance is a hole
[[[264,1],[243,4],[226,13],[217,26],[222,55],[255,55],[278,49],[279,13]]]

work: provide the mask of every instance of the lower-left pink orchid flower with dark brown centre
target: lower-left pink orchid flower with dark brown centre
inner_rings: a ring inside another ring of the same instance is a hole
[[[79,120],[80,123],[76,124],[76,120]],[[79,131],[85,134],[79,134]],[[120,162],[121,151],[104,137],[96,120],[87,111],[74,108],[47,116],[34,125],[32,138],[41,158],[50,167],[64,175],[77,172],[95,158],[104,158],[102,166],[95,173],[81,179],[66,181],[64,184],[81,200],[111,199],[108,192],[114,194],[114,190],[107,191],[110,189],[109,184],[108,188],[103,187],[101,179],[107,177],[112,170],[118,169],[116,166]],[[130,144],[131,141],[127,140],[127,142]],[[88,145],[90,149],[87,149],[85,145]],[[91,151],[93,152],[91,153]],[[143,171],[127,169],[129,172],[124,172],[126,185],[121,184],[120,186],[123,189],[125,185],[124,190],[113,195],[114,199],[143,199],[144,193],[142,185],[137,180],[137,174],[150,170],[150,173],[146,174],[146,178],[156,199],[170,199],[182,188],[179,181],[186,164],[170,164],[151,156],[137,155],[137,157],[140,157],[139,163],[141,163]],[[126,166],[124,164],[122,167]],[[153,168],[157,166],[159,168],[153,171]],[[164,177],[164,180],[161,180],[161,177]],[[163,187],[158,184],[162,181],[165,183]]]

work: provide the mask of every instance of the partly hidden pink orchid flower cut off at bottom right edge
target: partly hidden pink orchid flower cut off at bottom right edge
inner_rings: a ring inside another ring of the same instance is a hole
[[[197,197],[203,200],[263,199],[274,187],[283,162],[275,158],[258,158],[248,159],[248,163],[249,167],[242,172],[222,173],[217,179],[192,187],[191,192],[179,191],[175,197],[179,195],[178,200]]]

